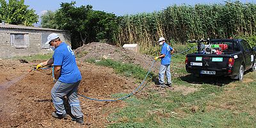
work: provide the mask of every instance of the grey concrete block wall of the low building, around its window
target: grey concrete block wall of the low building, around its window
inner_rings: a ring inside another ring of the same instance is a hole
[[[24,49],[17,49],[11,45],[10,35],[13,33],[26,33],[29,35],[29,45]],[[60,39],[70,45],[70,35],[66,31],[44,31],[33,29],[0,29],[0,58],[14,56],[31,56],[34,54],[47,54],[50,49],[42,49],[42,33],[58,33]]]

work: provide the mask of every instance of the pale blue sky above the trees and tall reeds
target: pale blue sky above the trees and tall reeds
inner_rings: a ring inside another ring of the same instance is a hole
[[[93,10],[100,10],[115,15],[130,15],[142,12],[160,11],[174,4],[195,5],[224,3],[224,0],[73,0],[76,6],[92,5]],[[240,0],[241,3],[256,3],[256,0]],[[70,3],[71,0],[25,0],[29,9],[33,8],[41,16],[47,10],[55,11],[60,8],[60,3]]]

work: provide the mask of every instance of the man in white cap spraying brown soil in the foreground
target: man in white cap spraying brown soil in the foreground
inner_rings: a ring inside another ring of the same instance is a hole
[[[50,60],[44,61],[36,66],[40,69],[46,65],[54,66],[54,86],[51,90],[52,102],[55,112],[52,112],[54,118],[66,118],[67,113],[63,104],[63,97],[67,96],[71,108],[72,120],[79,124],[84,124],[83,113],[79,99],[77,97],[77,88],[82,79],[81,72],[76,64],[76,57],[71,47],[65,42],[61,42],[58,34],[51,33],[47,37],[47,42],[54,51]]]

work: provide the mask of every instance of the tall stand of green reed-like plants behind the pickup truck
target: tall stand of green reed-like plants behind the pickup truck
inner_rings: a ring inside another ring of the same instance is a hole
[[[136,43],[141,51],[157,45],[160,36],[178,44],[200,38],[253,36],[256,4],[225,1],[225,4],[173,5],[160,12],[125,15],[119,31],[119,45]]]

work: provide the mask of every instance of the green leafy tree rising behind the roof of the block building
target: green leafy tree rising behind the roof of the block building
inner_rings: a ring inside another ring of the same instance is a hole
[[[28,9],[29,6],[24,4],[24,0],[9,0],[8,4],[5,0],[0,0],[0,4],[0,19],[9,24],[33,26],[38,22],[39,16],[35,10]]]

